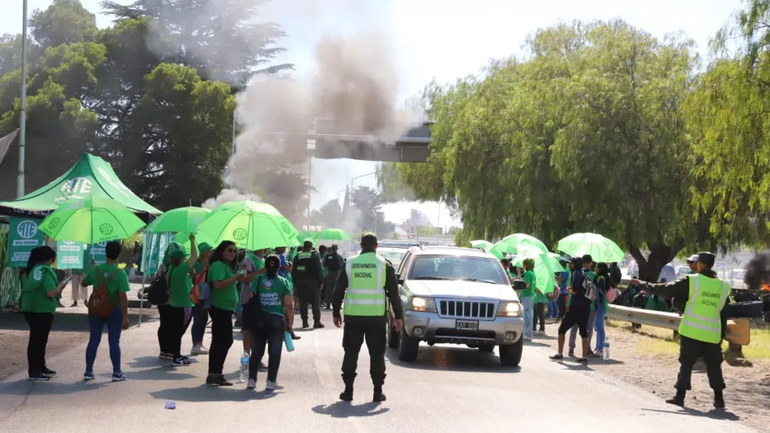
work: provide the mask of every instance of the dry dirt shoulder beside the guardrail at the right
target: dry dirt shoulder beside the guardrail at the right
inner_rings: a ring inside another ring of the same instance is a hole
[[[558,324],[548,324],[546,336],[536,336],[532,344],[550,347],[555,352],[557,330]],[[637,385],[661,398],[669,398],[675,392],[674,383],[679,371],[679,348],[669,341],[672,335],[671,331],[649,327],[635,332],[630,324],[613,323],[607,327],[612,359],[591,359],[589,367],[598,373]],[[580,342],[577,350],[580,350]],[[565,357],[566,352],[565,348]],[[727,384],[725,401],[728,413],[725,416],[758,431],[770,432],[770,361],[730,357],[722,364],[722,369]],[[687,407],[702,413],[712,411],[713,392],[702,361],[695,365],[692,388],[687,394]]]

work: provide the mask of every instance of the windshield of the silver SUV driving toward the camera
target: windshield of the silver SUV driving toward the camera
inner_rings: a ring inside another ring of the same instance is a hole
[[[415,257],[410,279],[510,284],[500,262],[491,257],[418,256]]]

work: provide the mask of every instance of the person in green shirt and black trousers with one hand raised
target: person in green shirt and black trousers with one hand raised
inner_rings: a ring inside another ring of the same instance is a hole
[[[192,319],[193,303],[190,300],[192,291],[192,273],[198,260],[198,248],[195,245],[195,235],[190,235],[190,257],[185,260],[184,250],[171,252],[168,283],[171,289],[169,296],[169,335],[167,347],[173,360],[173,365],[190,365],[190,360],[182,356],[182,337],[187,332],[187,326]]]

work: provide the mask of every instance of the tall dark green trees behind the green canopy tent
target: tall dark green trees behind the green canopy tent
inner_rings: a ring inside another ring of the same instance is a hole
[[[214,5],[222,1],[104,2],[115,22],[101,30],[79,0],[35,11],[27,192],[92,152],[161,209],[215,197],[231,149],[234,93],[251,74],[290,65],[273,65],[284,34],[255,20],[262,2]],[[17,35],[0,38],[0,135],[19,123],[20,47]],[[15,196],[17,155],[13,146],[0,171],[2,199]],[[306,193],[304,184],[297,190]]]

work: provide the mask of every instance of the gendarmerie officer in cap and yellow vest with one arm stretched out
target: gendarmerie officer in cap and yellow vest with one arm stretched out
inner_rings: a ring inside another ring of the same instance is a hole
[[[686,299],[682,319],[679,322],[679,377],[676,381],[676,396],[666,403],[684,406],[685,393],[690,390],[690,378],[695,361],[703,357],[709,385],[714,390],[714,407],[723,409],[722,394],[725,381],[722,376],[721,343],[727,329],[727,309],[730,285],[717,278],[711,268],[716,257],[711,253],[698,254],[697,270],[694,275],[668,284],[651,284],[639,280],[631,284],[642,290],[661,296]]]

